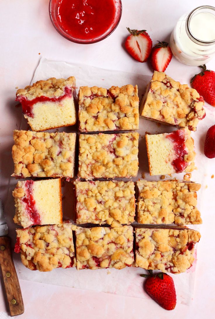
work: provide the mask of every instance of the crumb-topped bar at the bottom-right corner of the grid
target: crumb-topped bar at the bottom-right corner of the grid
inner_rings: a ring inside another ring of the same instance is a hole
[[[196,230],[135,228],[136,267],[181,273],[192,266],[194,245],[201,235]]]

